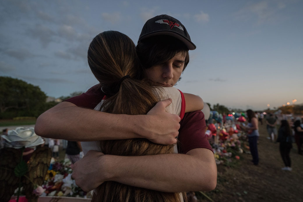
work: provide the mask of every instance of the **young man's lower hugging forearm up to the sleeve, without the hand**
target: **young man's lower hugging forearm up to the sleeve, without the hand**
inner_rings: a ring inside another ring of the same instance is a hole
[[[211,158],[189,154],[105,155],[105,164],[110,166],[106,175],[111,181],[164,192],[212,190],[217,179],[215,159],[210,150],[202,150]]]

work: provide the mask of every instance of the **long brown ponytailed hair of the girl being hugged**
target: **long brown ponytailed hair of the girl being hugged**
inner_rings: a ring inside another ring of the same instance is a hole
[[[146,114],[160,98],[155,88],[143,78],[143,70],[135,44],[118,31],[98,34],[88,48],[88,65],[107,95],[101,110],[113,114]],[[129,75],[121,81],[122,78]],[[155,144],[147,139],[100,141],[104,154],[142,156],[174,153],[174,145]],[[183,199],[185,199],[183,194]],[[154,202],[181,201],[179,193],[166,193],[106,181],[95,189],[92,202]]]

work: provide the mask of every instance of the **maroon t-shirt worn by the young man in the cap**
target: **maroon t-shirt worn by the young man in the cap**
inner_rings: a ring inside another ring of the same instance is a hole
[[[88,89],[86,93],[82,93],[65,101],[71,102],[78,107],[94,109],[103,97],[104,93],[101,91],[100,84],[97,84]],[[207,148],[212,151],[205,136],[206,123],[201,110],[185,113],[180,125],[178,136],[179,153],[186,154],[195,148]]]

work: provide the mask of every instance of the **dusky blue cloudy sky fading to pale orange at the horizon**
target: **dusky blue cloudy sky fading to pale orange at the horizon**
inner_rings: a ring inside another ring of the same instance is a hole
[[[303,0],[0,2],[0,75],[58,98],[98,81],[88,45],[116,30],[137,44],[156,15],[177,18],[197,46],[176,88],[228,108],[303,103]]]

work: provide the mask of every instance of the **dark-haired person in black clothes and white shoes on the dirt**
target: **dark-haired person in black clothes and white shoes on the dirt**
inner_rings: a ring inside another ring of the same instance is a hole
[[[277,142],[280,142],[280,153],[285,167],[282,170],[291,171],[290,150],[292,148],[292,131],[288,121],[281,120],[281,126],[278,132]]]

